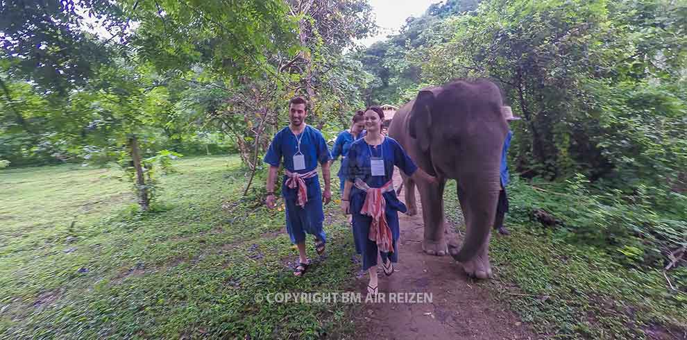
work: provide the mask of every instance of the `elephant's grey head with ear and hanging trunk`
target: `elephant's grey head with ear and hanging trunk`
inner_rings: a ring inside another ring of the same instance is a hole
[[[458,182],[468,230],[464,246],[449,247],[449,253],[459,262],[472,259],[489,243],[508,130],[502,105],[499,88],[489,80],[459,80],[421,90],[409,111],[408,133],[423,153],[418,165]]]

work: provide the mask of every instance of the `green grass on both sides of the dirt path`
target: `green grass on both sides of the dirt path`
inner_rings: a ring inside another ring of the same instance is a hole
[[[255,301],[277,291],[357,290],[359,264],[337,205],[325,209],[328,258],[316,257],[310,238],[314,266],[298,279],[284,211],[267,210],[260,189],[241,197],[248,178],[239,158],[174,165],[147,213],[137,212],[116,169],[0,171],[0,339],[355,339],[350,314],[360,305]],[[458,223],[455,182],[446,205]],[[669,291],[660,271],[621,266],[521,217],[509,219],[513,235],[492,239],[497,277],[477,284],[540,334],[681,339],[687,294]]]

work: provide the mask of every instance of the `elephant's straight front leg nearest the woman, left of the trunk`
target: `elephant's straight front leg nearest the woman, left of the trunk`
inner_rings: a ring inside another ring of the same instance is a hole
[[[422,248],[429,255],[443,256],[448,254],[446,246],[446,227],[443,219],[443,189],[446,180],[438,185],[417,182],[425,223],[425,237]]]

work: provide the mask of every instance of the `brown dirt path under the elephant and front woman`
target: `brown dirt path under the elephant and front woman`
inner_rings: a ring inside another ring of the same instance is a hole
[[[394,183],[398,188],[398,171]],[[432,303],[366,303],[362,315],[355,317],[359,339],[536,339],[486,288],[467,278],[450,256],[423,253],[419,202],[418,210],[416,216],[399,215],[396,272],[387,278],[380,271],[379,291],[387,297],[391,292],[431,293]],[[358,279],[360,291],[365,291],[367,282],[366,275]]]

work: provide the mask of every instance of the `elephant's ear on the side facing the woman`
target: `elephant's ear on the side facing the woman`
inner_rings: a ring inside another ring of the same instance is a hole
[[[428,87],[420,90],[415,99],[413,108],[410,111],[408,130],[410,137],[417,139],[423,151],[430,149],[432,126],[432,106],[436,101],[436,96],[441,93],[441,87]]]

